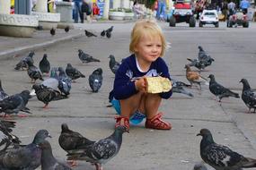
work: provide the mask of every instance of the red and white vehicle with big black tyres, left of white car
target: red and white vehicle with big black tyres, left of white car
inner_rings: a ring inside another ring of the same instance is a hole
[[[190,27],[196,26],[196,19],[191,9],[190,1],[184,0],[176,0],[176,4],[174,4],[174,9],[171,10],[172,15],[169,20],[170,27],[175,27],[176,23],[179,22],[187,22],[190,24]],[[167,16],[168,17],[168,16]]]

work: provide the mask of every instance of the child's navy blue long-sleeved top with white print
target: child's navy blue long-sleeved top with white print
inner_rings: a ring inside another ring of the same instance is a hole
[[[147,72],[140,72],[137,68],[137,61],[135,55],[130,55],[119,66],[116,72],[114,89],[112,91],[114,98],[125,99],[136,94],[138,91],[135,87],[135,80],[142,76],[156,77],[162,76],[170,78],[169,70],[163,58],[158,57],[154,61]],[[172,96],[172,89],[168,92],[160,93],[161,98],[170,98]]]

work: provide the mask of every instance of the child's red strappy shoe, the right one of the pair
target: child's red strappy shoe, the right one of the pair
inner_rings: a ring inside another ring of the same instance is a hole
[[[145,127],[149,129],[157,129],[157,130],[171,130],[172,124],[163,121],[162,119],[163,113],[158,113],[154,115],[151,119],[146,119]]]

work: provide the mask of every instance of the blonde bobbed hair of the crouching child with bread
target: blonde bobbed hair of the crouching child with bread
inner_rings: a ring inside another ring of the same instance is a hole
[[[161,38],[162,52],[161,52],[160,56],[163,56],[167,44],[166,44],[166,40],[163,36],[162,29],[153,20],[137,21],[132,32],[131,32],[129,51],[131,53],[136,53],[135,47],[137,47],[137,44],[138,44],[140,38],[143,38],[143,37],[154,38],[155,36],[159,36]]]

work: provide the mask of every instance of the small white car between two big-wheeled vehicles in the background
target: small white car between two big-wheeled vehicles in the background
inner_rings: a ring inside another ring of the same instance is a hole
[[[218,14],[216,10],[204,10],[199,17],[199,27],[205,24],[214,24],[218,27]]]

